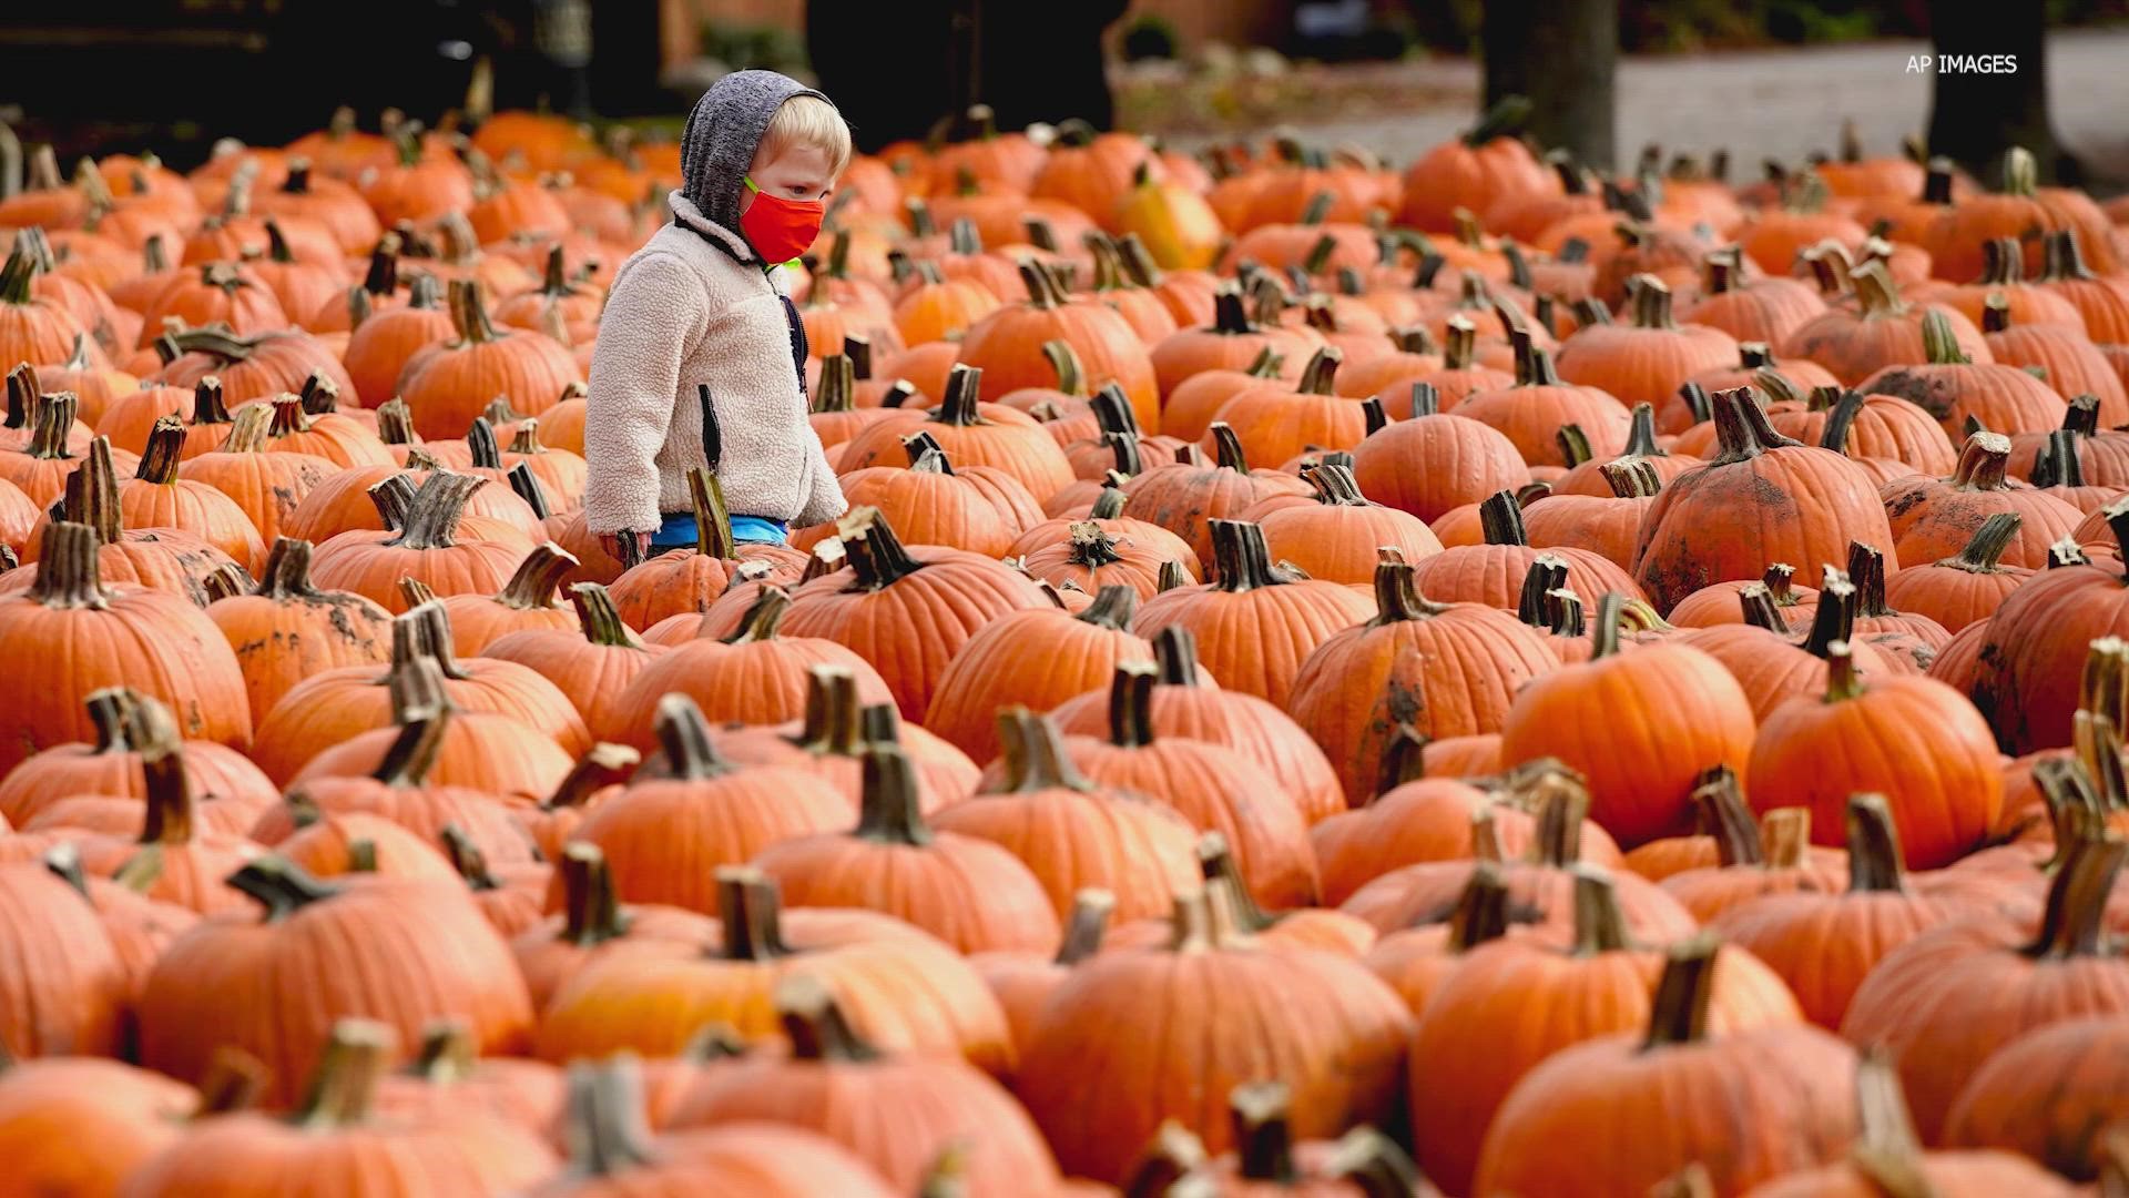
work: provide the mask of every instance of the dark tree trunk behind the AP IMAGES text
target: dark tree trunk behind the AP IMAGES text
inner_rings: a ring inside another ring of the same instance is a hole
[[[2048,117],[2046,32],[2044,4],[1929,0],[1929,41],[1937,53],[1929,104],[1931,153],[1993,181],[2003,151],[2023,145],[2040,164],[2044,183],[2078,179],[2078,162],[2061,153]],[[2010,55],[2018,70],[1944,70],[1944,55]]]

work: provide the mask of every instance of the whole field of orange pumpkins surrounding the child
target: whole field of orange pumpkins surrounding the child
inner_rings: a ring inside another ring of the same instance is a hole
[[[2129,207],[964,124],[654,556],[675,147],[32,162],[0,1194],[2129,1183]]]

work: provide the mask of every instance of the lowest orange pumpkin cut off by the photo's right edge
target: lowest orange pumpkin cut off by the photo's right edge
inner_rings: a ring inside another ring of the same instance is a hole
[[[2025,1153],[2072,1181],[2106,1164],[2101,1132],[2129,1117],[2129,1019],[2050,1023],[2003,1045],[1959,1094],[1944,1143]]]

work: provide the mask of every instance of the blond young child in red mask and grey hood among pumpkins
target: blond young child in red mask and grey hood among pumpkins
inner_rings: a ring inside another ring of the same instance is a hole
[[[688,471],[700,465],[717,471],[741,541],[781,544],[790,524],[843,514],[807,420],[805,326],[781,266],[813,243],[847,164],[849,126],[796,79],[739,70],[696,102],[673,224],[622,262],[598,322],[583,516],[611,556],[630,561],[624,537],[643,556],[696,541]]]

